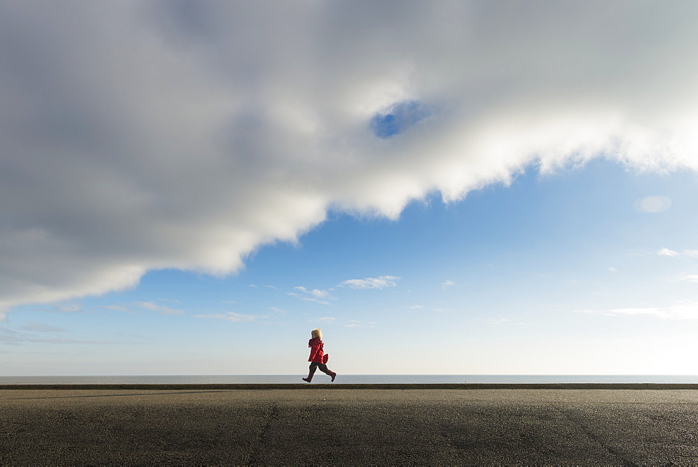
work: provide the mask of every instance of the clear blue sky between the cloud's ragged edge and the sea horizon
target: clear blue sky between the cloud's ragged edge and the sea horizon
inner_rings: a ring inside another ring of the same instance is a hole
[[[593,161],[396,220],[332,213],[237,274],[20,307],[6,373],[302,372],[313,327],[346,373],[692,373],[695,183]]]

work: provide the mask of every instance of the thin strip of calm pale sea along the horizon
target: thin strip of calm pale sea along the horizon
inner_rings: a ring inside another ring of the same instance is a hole
[[[0,376],[0,384],[232,384],[303,383],[304,375]],[[315,374],[313,382],[329,383]],[[697,383],[698,376],[667,375],[339,375],[336,383]]]

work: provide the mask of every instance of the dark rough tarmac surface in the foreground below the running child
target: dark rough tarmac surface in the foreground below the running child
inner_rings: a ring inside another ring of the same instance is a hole
[[[0,464],[698,464],[698,390],[326,386],[3,387]]]

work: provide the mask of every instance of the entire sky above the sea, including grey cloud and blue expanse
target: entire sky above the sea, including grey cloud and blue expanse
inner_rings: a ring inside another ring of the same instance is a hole
[[[698,3],[0,1],[0,376],[698,374]]]

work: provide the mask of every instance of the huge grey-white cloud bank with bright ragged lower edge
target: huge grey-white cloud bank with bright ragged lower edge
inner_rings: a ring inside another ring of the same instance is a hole
[[[3,1],[0,309],[149,269],[233,272],[327,209],[397,216],[530,165],[696,169],[697,17],[651,1]],[[378,138],[371,119],[406,102],[428,116]]]

